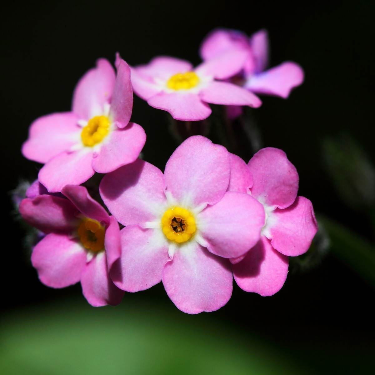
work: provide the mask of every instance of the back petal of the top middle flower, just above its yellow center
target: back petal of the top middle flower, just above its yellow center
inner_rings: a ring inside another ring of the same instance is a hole
[[[146,78],[168,80],[177,73],[189,72],[193,66],[186,60],[169,56],[154,57],[147,65],[135,67],[137,73]]]

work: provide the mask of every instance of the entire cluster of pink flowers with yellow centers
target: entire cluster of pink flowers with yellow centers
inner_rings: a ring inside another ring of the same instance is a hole
[[[184,121],[207,118],[207,103],[257,108],[254,92],[287,97],[302,70],[283,63],[262,73],[267,51],[265,31],[216,30],[196,68],[172,57],[130,68],[117,55],[115,72],[100,59],[78,82],[70,112],[31,124],[22,152],[44,165],[19,209],[41,232],[31,263],[43,284],[80,281],[87,301],[104,306],[162,281],[189,314],[224,306],[233,276],[248,292],[280,290],[288,257],[306,252],[317,232],[286,154],[267,147],[246,164],[197,135],[162,172],[139,158],[145,132],[129,122],[132,90]],[[99,201],[86,187],[95,172],[104,174],[93,190]]]

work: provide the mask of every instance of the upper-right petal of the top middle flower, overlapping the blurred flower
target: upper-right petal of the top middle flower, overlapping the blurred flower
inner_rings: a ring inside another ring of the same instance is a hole
[[[211,76],[217,80],[226,80],[243,69],[249,56],[248,49],[233,49],[206,60],[198,65],[194,71],[198,75]]]

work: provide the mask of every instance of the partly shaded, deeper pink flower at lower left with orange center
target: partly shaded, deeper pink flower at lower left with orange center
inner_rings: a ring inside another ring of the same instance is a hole
[[[118,223],[85,187],[68,185],[62,192],[68,199],[39,195],[21,202],[23,218],[46,233],[34,247],[31,263],[48,287],[81,281],[92,306],[118,305],[124,293],[109,277],[120,257]]]

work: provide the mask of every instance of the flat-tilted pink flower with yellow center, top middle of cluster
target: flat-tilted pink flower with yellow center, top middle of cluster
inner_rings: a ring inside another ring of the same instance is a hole
[[[211,114],[207,103],[248,105],[258,108],[260,99],[229,82],[220,82],[242,69],[246,51],[220,55],[193,68],[174,57],[159,56],[148,65],[132,68],[135,93],[154,108],[168,111],[181,121],[204,120]]]

